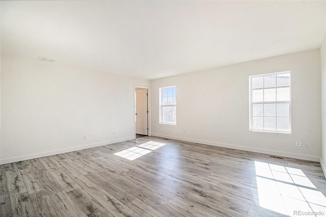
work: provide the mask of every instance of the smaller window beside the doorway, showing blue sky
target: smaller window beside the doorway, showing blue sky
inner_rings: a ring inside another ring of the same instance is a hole
[[[159,95],[159,122],[175,125],[177,122],[176,86],[159,88]]]

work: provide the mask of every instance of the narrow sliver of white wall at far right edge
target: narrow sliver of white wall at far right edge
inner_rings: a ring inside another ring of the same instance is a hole
[[[320,165],[326,177],[326,35],[320,48],[321,59],[321,150]]]

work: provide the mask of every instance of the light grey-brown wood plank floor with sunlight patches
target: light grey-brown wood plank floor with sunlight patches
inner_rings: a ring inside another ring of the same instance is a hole
[[[317,162],[158,137],[0,172],[0,216],[326,216],[325,196]]]

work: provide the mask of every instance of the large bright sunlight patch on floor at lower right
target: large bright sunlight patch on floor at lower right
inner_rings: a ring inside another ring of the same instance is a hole
[[[259,205],[290,216],[326,214],[326,198],[300,169],[255,161]]]

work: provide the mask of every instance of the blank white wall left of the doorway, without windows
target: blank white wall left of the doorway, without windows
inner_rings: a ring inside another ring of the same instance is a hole
[[[149,81],[8,56],[1,67],[1,164],[133,139],[134,85]]]

